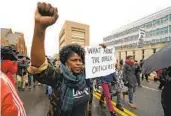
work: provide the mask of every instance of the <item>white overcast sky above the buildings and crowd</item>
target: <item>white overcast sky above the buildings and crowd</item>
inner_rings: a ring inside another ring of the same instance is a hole
[[[123,25],[171,6],[171,0],[0,0],[0,28],[12,28],[24,33],[30,53],[34,12],[38,1],[46,1],[58,8],[58,21],[47,29],[46,54],[58,51],[58,34],[65,20],[90,26],[90,44]]]

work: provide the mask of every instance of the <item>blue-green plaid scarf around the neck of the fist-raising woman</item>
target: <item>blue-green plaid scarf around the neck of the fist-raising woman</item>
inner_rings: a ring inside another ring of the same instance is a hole
[[[61,111],[70,113],[74,104],[73,91],[74,89],[83,90],[86,87],[85,76],[82,73],[77,76],[73,75],[62,63],[60,68],[64,76],[61,86]]]

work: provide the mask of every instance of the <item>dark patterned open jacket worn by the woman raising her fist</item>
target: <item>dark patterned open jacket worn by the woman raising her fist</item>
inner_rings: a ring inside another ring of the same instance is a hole
[[[61,112],[61,84],[63,82],[63,74],[58,67],[54,67],[51,63],[48,64],[47,69],[38,74],[33,74],[34,78],[43,84],[47,84],[52,87],[53,91],[50,96],[50,108],[48,116],[69,116],[65,112]],[[87,87],[90,89],[91,104],[93,98],[93,87],[90,80],[86,80]],[[61,114],[61,115],[60,115]]]

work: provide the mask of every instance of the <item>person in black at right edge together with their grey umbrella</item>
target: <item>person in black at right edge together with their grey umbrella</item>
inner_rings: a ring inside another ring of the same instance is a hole
[[[164,69],[162,75],[165,85],[161,94],[161,104],[163,106],[164,115],[171,116],[171,42],[164,48],[146,59],[143,64],[143,72],[145,74]]]

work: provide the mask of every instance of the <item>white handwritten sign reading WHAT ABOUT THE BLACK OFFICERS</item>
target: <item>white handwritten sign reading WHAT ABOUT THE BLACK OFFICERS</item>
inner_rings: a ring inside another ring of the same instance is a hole
[[[86,78],[96,78],[111,74],[115,71],[115,48],[101,46],[85,47]]]

